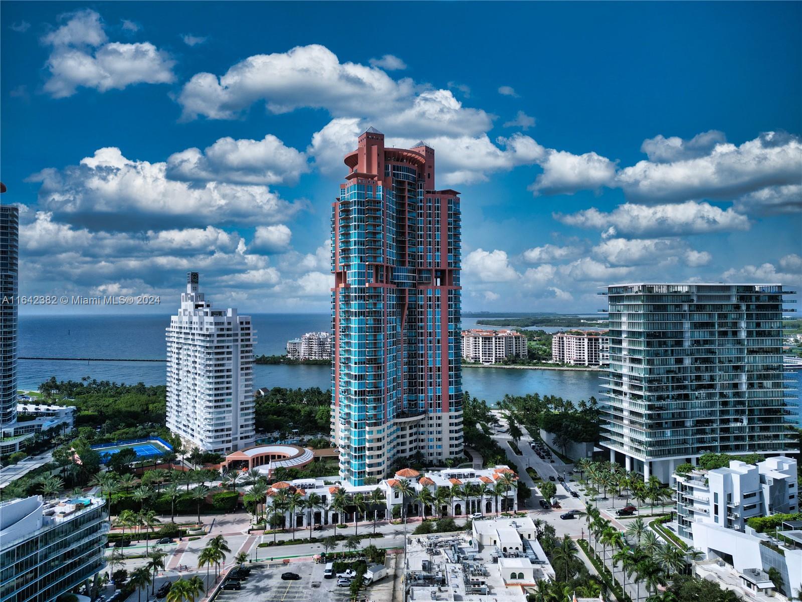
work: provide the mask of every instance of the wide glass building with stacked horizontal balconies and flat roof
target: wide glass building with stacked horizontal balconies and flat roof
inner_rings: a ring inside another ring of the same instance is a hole
[[[701,454],[792,449],[780,284],[606,287],[610,460],[669,482]],[[796,404],[796,401],[793,402]],[[618,457],[616,454],[619,454]]]

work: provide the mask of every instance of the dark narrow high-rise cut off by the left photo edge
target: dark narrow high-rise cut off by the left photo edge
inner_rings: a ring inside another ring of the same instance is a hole
[[[0,205],[0,426],[17,420],[19,209]]]

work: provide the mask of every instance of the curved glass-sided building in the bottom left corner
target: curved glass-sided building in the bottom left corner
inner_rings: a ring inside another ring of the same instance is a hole
[[[0,600],[51,602],[99,571],[106,560],[103,498],[0,504]]]

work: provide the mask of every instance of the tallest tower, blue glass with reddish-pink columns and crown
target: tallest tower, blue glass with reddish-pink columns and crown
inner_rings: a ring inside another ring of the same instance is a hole
[[[332,434],[364,485],[397,458],[460,456],[460,197],[435,152],[369,128],[345,157],[331,218]]]

